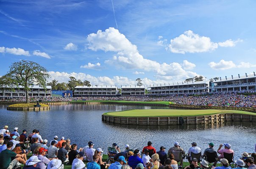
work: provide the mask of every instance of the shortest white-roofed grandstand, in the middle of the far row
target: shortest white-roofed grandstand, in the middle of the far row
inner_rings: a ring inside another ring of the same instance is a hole
[[[129,95],[145,95],[145,87],[142,86],[123,86],[121,87],[121,95],[129,96]]]

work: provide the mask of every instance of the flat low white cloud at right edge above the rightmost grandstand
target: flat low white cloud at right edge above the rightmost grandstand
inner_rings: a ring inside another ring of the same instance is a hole
[[[238,65],[236,65],[233,61],[225,61],[220,60],[219,63],[210,62],[208,64],[212,69],[214,70],[225,70],[225,69],[231,69],[231,68],[253,68],[256,67],[256,65],[253,65],[249,62],[241,62]]]

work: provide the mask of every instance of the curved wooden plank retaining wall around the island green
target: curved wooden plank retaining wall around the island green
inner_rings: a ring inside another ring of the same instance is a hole
[[[113,117],[102,114],[102,121],[126,125],[179,125],[180,117]],[[206,116],[182,117],[184,124],[222,123],[225,121],[256,122],[256,115],[214,114]]]

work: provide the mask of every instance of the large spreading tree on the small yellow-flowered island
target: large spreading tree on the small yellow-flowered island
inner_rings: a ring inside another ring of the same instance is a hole
[[[29,103],[28,90],[31,85],[41,85],[46,88],[46,79],[50,77],[46,68],[28,60],[14,62],[7,74],[2,76],[4,85],[14,88],[22,85],[26,92],[26,103]]]

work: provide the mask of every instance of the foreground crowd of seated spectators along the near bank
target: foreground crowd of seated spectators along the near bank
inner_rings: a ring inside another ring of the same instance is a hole
[[[180,165],[183,166],[185,157],[190,164],[185,169],[208,169],[210,165],[215,169],[232,169],[230,165],[233,159],[230,161],[228,157],[235,153],[231,144],[220,144],[215,150],[212,142],[204,151],[196,142],[192,142],[187,153],[178,142],[174,142],[167,153],[164,146],[156,151],[152,142],[147,142],[142,152],[131,148],[126,144],[122,149],[113,143],[108,148],[109,163],[106,163],[102,160],[103,150],[100,147],[95,149],[92,141],[78,149],[77,144],[71,144],[71,140],[63,136],[61,139],[54,136],[53,140],[48,142],[47,139],[42,139],[39,130],[34,129],[28,134],[24,129],[19,133],[19,128],[15,127],[13,132],[10,132],[5,125],[0,130],[0,169],[21,168],[20,164],[24,164],[24,169],[63,169],[64,164],[72,165],[72,169],[86,169],[84,162],[88,162],[87,169],[179,169]],[[251,152],[255,151],[256,146]],[[27,159],[29,153],[32,153],[32,156]],[[222,166],[215,167],[218,161]],[[233,162],[236,169],[256,169],[256,153],[244,152],[241,158]]]

